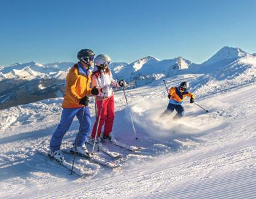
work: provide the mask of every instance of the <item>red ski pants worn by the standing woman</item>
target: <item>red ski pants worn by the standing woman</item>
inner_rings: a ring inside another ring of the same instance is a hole
[[[101,128],[104,125],[104,135],[109,135],[112,131],[113,122],[115,118],[115,104],[114,104],[114,96],[112,95],[108,99],[97,100],[97,120],[93,126],[93,132],[91,133],[91,138],[95,138],[96,128],[97,128],[97,121],[99,120],[99,114],[101,114],[101,119],[99,121],[99,128],[97,137],[101,135]],[[103,106],[103,107],[102,107]],[[102,107],[102,112],[101,112]]]

